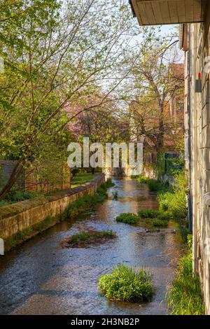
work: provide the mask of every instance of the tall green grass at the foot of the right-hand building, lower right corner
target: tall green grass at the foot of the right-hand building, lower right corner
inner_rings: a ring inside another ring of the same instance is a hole
[[[188,236],[188,253],[179,260],[172,286],[167,292],[170,314],[202,315],[204,303],[199,276],[193,274],[192,237]]]

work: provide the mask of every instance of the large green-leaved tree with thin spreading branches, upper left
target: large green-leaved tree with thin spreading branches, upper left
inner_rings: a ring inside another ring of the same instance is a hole
[[[17,163],[0,200],[22,168],[48,147],[56,150],[57,139],[66,148],[66,125],[74,116],[64,106],[103,87],[102,106],[133,64],[125,60],[132,34],[125,1],[3,1],[1,13],[0,157]]]

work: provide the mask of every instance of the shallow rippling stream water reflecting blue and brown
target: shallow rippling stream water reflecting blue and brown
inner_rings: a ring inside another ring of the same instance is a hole
[[[167,314],[164,298],[181,251],[179,238],[170,229],[146,233],[116,223],[118,214],[155,209],[157,202],[144,184],[113,181],[109,199],[93,211],[0,256],[0,314]],[[118,200],[112,200],[113,190],[118,190]],[[62,248],[63,239],[87,229],[113,230],[117,237],[90,248]],[[109,302],[100,294],[99,275],[119,263],[151,270],[156,290],[152,302]]]

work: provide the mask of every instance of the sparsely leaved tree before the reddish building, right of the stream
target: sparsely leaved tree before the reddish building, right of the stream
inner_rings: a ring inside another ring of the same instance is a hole
[[[174,50],[176,34],[160,39],[155,29],[146,29],[145,38],[132,71],[136,91],[130,104],[132,134],[147,139],[160,153],[164,137],[177,128],[169,116],[169,102],[175,95],[183,97],[183,75],[172,69],[180,61]]]

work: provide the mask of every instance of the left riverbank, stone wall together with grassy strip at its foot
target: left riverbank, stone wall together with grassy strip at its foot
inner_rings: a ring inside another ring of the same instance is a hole
[[[31,239],[58,223],[66,214],[69,205],[82,202],[82,209],[91,206],[93,195],[105,181],[104,174],[99,174],[85,186],[71,188],[50,197],[34,198],[0,208],[0,237],[4,240],[5,251]],[[94,198],[94,202],[96,202]],[[73,207],[73,206],[71,206]],[[78,208],[78,204],[76,204]]]

